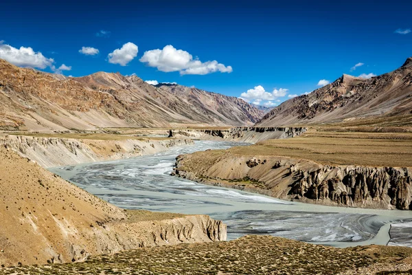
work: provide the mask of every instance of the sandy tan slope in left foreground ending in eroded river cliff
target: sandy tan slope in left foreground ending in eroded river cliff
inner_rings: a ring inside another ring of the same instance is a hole
[[[5,148],[0,148],[0,167],[0,265],[62,263],[226,238],[220,221],[122,210]]]

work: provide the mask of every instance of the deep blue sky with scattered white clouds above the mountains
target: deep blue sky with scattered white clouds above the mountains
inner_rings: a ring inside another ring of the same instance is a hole
[[[268,2],[5,0],[0,58],[67,76],[137,74],[279,104],[344,73],[390,72],[412,56],[411,1]]]

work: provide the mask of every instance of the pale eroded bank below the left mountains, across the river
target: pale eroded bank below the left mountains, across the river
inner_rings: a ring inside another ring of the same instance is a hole
[[[75,140],[58,137],[0,135],[0,146],[10,148],[43,167],[65,166],[82,162],[124,159],[168,150],[172,146],[193,144],[189,139],[149,140]]]

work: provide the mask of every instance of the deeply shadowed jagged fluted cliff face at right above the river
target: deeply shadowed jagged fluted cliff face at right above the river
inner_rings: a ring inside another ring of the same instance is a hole
[[[319,166],[306,170],[294,164],[286,164],[285,168],[295,178],[290,197],[328,199],[345,206],[382,204],[412,210],[411,168]]]

